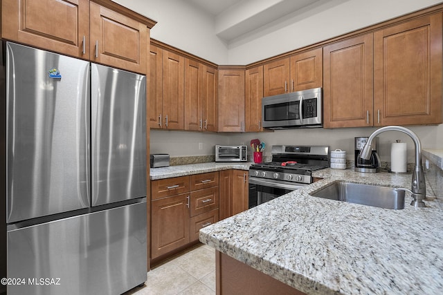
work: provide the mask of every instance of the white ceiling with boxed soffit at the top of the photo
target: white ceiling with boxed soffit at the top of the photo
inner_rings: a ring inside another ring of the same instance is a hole
[[[183,0],[214,18],[215,33],[230,41],[324,0]]]

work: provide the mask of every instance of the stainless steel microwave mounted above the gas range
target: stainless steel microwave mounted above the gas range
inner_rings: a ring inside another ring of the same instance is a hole
[[[322,88],[263,97],[262,120],[268,129],[322,127]]]

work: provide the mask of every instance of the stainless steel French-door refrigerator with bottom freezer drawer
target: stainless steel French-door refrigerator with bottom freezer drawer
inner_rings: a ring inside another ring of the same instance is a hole
[[[143,284],[145,76],[2,45],[8,294]]]

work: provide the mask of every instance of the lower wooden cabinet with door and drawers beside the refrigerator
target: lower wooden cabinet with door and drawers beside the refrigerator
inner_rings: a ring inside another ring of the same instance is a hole
[[[151,260],[197,242],[199,230],[219,220],[218,186],[218,172],[152,180]]]

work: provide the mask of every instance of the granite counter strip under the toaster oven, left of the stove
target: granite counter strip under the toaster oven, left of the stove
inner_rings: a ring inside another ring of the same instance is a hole
[[[162,168],[150,169],[150,180],[158,180],[163,178],[173,178],[184,175],[192,175],[206,172],[214,172],[228,169],[248,170],[252,162],[233,162],[233,163],[221,163],[221,162],[208,162],[199,164],[186,164],[169,166]]]

